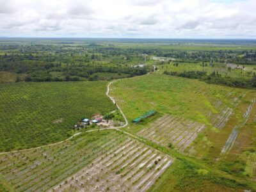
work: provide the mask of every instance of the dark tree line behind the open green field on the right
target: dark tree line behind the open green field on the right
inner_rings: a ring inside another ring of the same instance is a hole
[[[256,77],[252,77],[252,79],[242,79],[235,77],[227,77],[221,76],[218,72],[212,72],[211,74],[207,74],[204,71],[184,71],[184,72],[167,72],[164,71],[163,74],[169,76],[178,76],[178,77],[186,77],[189,79],[199,79],[200,81],[204,81],[205,83],[211,84],[221,84],[225,86],[232,86],[236,88],[256,88]]]

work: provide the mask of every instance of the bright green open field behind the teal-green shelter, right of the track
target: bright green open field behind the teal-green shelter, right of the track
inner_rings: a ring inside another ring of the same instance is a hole
[[[232,115],[228,108],[233,108],[234,99],[239,102],[246,92],[181,77],[149,74],[116,81],[111,84],[110,93],[130,121],[154,109],[214,127],[215,123],[221,124],[218,120]]]

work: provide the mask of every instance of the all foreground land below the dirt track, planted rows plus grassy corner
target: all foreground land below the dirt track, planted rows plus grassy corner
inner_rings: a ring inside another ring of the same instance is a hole
[[[93,191],[95,186],[104,191],[248,188],[117,131],[89,132],[56,145],[2,154],[0,165],[3,189],[16,191]]]

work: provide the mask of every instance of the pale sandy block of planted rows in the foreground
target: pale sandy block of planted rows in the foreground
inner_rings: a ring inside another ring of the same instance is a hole
[[[173,161],[127,139],[49,191],[147,191]]]

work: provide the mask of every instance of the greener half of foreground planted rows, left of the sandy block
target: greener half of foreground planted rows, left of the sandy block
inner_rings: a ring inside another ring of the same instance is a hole
[[[124,140],[115,131],[91,132],[58,145],[3,154],[0,172],[17,191],[45,191]]]

